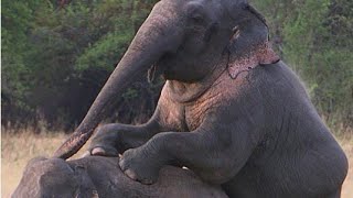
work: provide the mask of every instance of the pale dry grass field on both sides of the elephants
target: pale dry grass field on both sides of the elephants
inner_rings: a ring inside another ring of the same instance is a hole
[[[33,134],[30,131],[15,135],[9,132],[1,133],[1,197],[8,198],[19,184],[26,162],[39,155],[51,156],[66,136],[63,133]],[[340,143],[352,165],[353,138],[340,138]],[[81,156],[81,153],[77,156]],[[350,168],[342,190],[342,198],[351,197],[353,197],[353,168]]]

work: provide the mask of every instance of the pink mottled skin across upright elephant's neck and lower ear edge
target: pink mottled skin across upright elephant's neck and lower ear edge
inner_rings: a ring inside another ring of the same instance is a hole
[[[183,97],[183,92],[180,91],[175,95],[175,90],[171,84],[178,84],[175,81],[167,81],[160,100],[159,109],[161,110],[161,119],[163,125],[167,125],[169,130],[175,131],[194,131],[205,120],[206,114],[217,111],[217,108],[225,106],[235,99],[242,89],[246,88],[248,84],[245,80],[246,73],[261,64],[274,64],[279,61],[279,57],[270,48],[268,42],[265,42],[256,51],[252,51],[247,56],[243,56],[232,63],[221,62],[220,64],[227,65],[227,69],[224,69],[222,74],[210,84],[203,94],[194,94],[199,96],[189,101],[178,101],[175,97],[180,95]],[[220,66],[222,67],[222,66]],[[223,66],[225,67],[225,66]],[[180,82],[182,84],[182,82]],[[183,86],[185,86],[183,84]],[[194,86],[195,85],[191,85]],[[199,85],[199,87],[202,85]],[[197,87],[197,86],[196,86]],[[188,86],[185,86],[185,90]],[[193,89],[197,91],[197,89]],[[199,91],[204,89],[199,89]],[[174,92],[173,92],[174,91]],[[186,92],[186,91],[185,91]]]

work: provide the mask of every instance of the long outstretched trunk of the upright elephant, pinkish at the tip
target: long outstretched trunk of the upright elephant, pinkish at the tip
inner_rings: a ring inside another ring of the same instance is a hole
[[[106,111],[113,108],[114,100],[122,95],[126,87],[164,53],[175,51],[182,40],[182,33],[175,28],[179,22],[173,11],[156,4],[86,117],[75,133],[54,153],[54,157],[68,158],[74,155],[92,136]]]

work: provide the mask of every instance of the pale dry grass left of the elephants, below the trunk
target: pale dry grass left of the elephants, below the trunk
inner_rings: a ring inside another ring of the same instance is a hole
[[[31,130],[18,134],[1,132],[1,197],[10,197],[31,158],[50,157],[66,138],[64,133],[33,134]],[[74,157],[84,151],[85,147]]]

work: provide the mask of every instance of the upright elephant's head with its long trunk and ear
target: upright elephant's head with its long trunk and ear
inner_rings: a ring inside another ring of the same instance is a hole
[[[246,0],[161,0],[137,32],[85,119],[54,156],[67,158],[75,154],[114,100],[140,74],[149,70],[149,78],[163,75],[168,80],[195,82],[228,69],[236,77],[249,69],[242,68],[243,62],[254,62],[255,66],[277,61],[267,42],[266,22]],[[246,58],[255,51],[258,53],[252,55],[255,58]],[[224,57],[227,64],[220,64]]]

